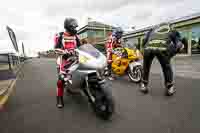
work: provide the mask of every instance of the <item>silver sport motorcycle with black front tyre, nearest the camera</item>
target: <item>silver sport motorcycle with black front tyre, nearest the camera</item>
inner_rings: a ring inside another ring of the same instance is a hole
[[[97,116],[109,119],[114,112],[114,100],[104,77],[106,57],[91,44],[82,45],[75,51],[77,56],[68,58],[74,62],[66,69],[72,78],[66,80],[65,89],[80,90]]]

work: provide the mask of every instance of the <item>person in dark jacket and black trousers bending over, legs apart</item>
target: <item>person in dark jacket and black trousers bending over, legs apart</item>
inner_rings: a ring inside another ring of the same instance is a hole
[[[173,95],[176,89],[170,60],[184,47],[180,33],[172,29],[170,24],[162,23],[150,29],[146,34],[143,45],[143,78],[140,91],[145,94],[148,93],[149,72],[154,57],[157,57],[164,73],[166,95]]]

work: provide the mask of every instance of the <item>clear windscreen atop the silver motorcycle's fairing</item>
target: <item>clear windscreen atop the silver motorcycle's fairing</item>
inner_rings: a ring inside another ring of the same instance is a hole
[[[97,50],[91,44],[84,44],[84,45],[79,47],[79,50],[84,51],[84,52],[90,54],[91,56],[93,56],[95,58],[98,58],[100,56],[100,51]]]

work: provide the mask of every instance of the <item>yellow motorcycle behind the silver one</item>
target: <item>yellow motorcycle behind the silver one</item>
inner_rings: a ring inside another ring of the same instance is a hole
[[[142,79],[142,60],[143,56],[136,48],[115,48],[112,51],[112,73],[118,76],[128,74],[132,82],[138,83]]]

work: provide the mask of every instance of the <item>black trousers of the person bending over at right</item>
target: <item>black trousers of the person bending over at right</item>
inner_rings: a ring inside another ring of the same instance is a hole
[[[143,62],[143,83],[148,84],[149,72],[154,57],[157,57],[165,78],[165,86],[173,84],[173,71],[170,64],[171,57],[166,51],[158,50],[144,50],[144,62]]]

